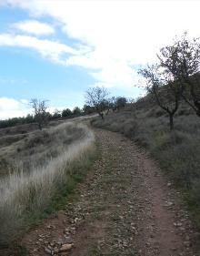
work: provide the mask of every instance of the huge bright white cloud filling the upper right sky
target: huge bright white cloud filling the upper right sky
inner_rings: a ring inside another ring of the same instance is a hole
[[[109,87],[130,89],[137,80],[133,66],[154,61],[158,49],[170,43],[175,35],[187,30],[190,36],[200,36],[200,1],[4,2],[24,8],[32,16],[49,15],[63,25],[65,35],[78,40],[85,49],[62,59],[55,45],[52,50],[47,46],[47,52],[45,46],[38,50],[45,56],[51,56],[51,59],[55,56],[55,61],[63,65],[88,68],[96,83]],[[60,47],[65,48],[58,44],[58,49]]]

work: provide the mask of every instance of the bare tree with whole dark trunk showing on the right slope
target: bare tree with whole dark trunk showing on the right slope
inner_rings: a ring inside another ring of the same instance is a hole
[[[145,77],[146,90],[155,97],[158,106],[168,114],[169,127],[172,130],[181,97],[180,84],[166,76],[165,70],[160,69],[158,65],[141,69],[139,74]]]

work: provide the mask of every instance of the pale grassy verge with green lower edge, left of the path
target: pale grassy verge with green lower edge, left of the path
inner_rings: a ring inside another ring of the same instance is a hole
[[[15,172],[0,181],[2,247],[14,244],[31,225],[61,209],[91,167],[96,157],[94,134],[85,126],[70,126],[78,130],[79,138],[62,147],[57,157],[46,160],[45,166]]]

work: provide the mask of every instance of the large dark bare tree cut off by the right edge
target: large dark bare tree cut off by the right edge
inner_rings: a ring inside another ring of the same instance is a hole
[[[165,71],[181,84],[182,97],[200,117],[199,38],[189,40],[185,32],[181,39],[174,40],[172,46],[162,48],[158,58]]]

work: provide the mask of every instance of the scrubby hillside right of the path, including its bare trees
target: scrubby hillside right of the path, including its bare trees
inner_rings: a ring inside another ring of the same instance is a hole
[[[199,38],[176,37],[160,49],[155,64],[138,71],[146,96],[92,123],[145,146],[183,189],[200,228],[199,68]]]

